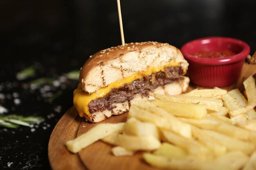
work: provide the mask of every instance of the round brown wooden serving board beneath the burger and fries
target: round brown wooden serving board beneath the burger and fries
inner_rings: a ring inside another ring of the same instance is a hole
[[[243,77],[256,73],[256,65],[245,64],[242,75],[236,84],[225,87],[231,90],[241,88]],[[194,88],[202,88],[190,84],[188,91]],[[118,123],[127,119],[127,113],[112,116],[100,123]],[[70,108],[56,124],[49,139],[48,156],[53,170],[156,170],[146,164],[141,152],[133,156],[115,157],[111,154],[109,144],[97,141],[91,146],[81,150],[77,154],[69,152],[65,142],[82,135],[93,126],[100,123],[90,123],[85,118],[79,117],[76,108]]]

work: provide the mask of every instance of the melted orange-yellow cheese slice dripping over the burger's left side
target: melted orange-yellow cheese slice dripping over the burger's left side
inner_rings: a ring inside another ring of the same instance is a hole
[[[90,116],[90,111],[88,108],[89,103],[92,100],[104,97],[107,95],[112,88],[120,88],[124,84],[130,84],[136,79],[141,79],[145,75],[150,75],[151,73],[157,73],[159,71],[165,72],[164,68],[169,66],[179,66],[180,64],[177,62],[171,62],[168,65],[161,66],[158,68],[151,68],[147,71],[141,71],[139,73],[134,73],[133,75],[130,75],[128,77],[124,77],[123,79],[117,80],[116,82],[113,82],[112,84],[108,85],[107,87],[100,88],[99,91],[89,94],[88,92],[83,91],[83,88],[81,84],[78,84],[78,87],[74,90],[74,106],[79,112],[79,115],[83,117],[84,113]],[[184,71],[184,74],[186,71]]]

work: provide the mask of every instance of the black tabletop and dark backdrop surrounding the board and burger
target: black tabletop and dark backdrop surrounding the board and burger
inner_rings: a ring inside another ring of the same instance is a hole
[[[227,36],[247,42],[252,54],[255,7],[256,0],[121,0],[125,41],[168,42],[180,48],[196,38]],[[64,74],[79,69],[93,53],[120,44],[115,0],[1,0],[0,106],[8,109],[2,115],[41,116],[45,122],[0,127],[0,169],[50,169],[49,137],[72,106],[78,84]],[[16,73],[29,66],[36,74],[18,80]],[[52,77],[59,86],[31,88],[30,82],[40,77]],[[45,91],[61,95],[49,102]]]

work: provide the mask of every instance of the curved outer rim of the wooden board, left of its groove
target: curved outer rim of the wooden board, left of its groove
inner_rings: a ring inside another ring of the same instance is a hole
[[[82,122],[76,108],[70,108],[58,121],[48,144],[48,157],[53,170],[87,170],[79,155],[69,152],[65,143],[76,137]]]

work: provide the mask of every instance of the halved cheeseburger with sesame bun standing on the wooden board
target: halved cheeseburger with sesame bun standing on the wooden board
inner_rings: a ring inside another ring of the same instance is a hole
[[[81,68],[74,106],[81,117],[99,122],[129,110],[132,102],[154,93],[186,91],[188,68],[179,49],[167,43],[141,42],[111,47],[90,56]]]

